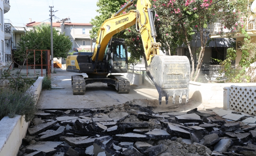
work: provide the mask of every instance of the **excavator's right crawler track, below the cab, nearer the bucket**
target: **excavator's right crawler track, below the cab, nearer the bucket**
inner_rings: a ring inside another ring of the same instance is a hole
[[[124,76],[108,76],[110,79],[117,80],[117,87],[111,84],[108,84],[108,87],[114,89],[118,94],[125,94],[130,92],[130,80]],[[117,89],[116,89],[117,88]]]

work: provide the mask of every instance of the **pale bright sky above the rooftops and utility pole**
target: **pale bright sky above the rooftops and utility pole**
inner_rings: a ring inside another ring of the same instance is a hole
[[[4,14],[15,26],[16,23],[27,24],[29,18],[32,22],[49,22],[49,6],[54,6],[55,16],[62,19],[70,17],[73,23],[89,23],[98,13],[96,2],[98,0],[10,0],[11,8]],[[54,22],[60,19],[53,19]]]

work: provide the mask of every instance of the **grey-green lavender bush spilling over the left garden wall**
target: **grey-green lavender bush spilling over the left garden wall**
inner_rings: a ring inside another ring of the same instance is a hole
[[[13,118],[18,114],[25,116],[26,122],[32,121],[37,111],[37,95],[33,92],[26,91],[27,89],[0,89],[0,119],[7,115]]]

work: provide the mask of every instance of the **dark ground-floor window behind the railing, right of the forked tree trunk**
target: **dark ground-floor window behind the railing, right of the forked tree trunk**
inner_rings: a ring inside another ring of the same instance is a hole
[[[224,47],[212,47],[211,48],[211,63],[218,64],[218,62],[214,59],[224,60],[226,59],[226,50]]]

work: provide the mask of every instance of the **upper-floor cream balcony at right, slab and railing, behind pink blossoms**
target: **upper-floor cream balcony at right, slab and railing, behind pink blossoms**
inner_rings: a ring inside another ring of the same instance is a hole
[[[247,31],[249,36],[256,36],[256,14],[252,12],[244,13],[243,19],[246,19],[243,23],[244,29]],[[210,37],[211,38],[224,38],[228,34],[232,33],[232,30],[226,29],[222,24],[226,21],[226,17],[219,18],[210,25]],[[238,21],[238,23],[241,21]],[[224,36],[220,36],[220,33],[224,33]],[[241,32],[237,32],[232,38],[244,37]]]

